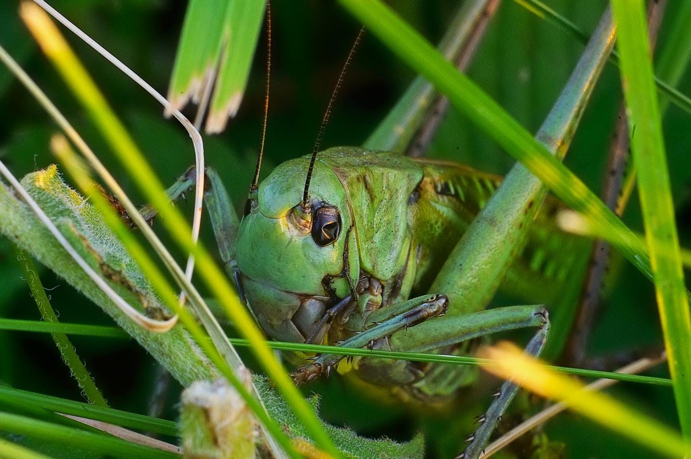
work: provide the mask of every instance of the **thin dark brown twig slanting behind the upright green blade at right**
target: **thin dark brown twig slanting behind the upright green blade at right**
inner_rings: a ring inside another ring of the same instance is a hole
[[[662,23],[663,13],[667,0],[652,0],[648,3],[647,24],[651,51],[655,48],[657,34]],[[612,209],[618,211],[621,217],[623,206],[618,206],[618,200],[623,184],[627,159],[629,157],[629,125],[626,117],[626,105],[622,101],[618,122],[612,134],[612,144],[609,148],[609,162],[607,164],[607,176],[603,186],[603,202]],[[593,324],[600,311],[600,293],[602,291],[605,275],[607,274],[609,253],[611,247],[603,240],[594,242],[590,255],[590,264],[585,277],[583,294],[581,296],[576,321],[571,329],[571,335],[567,342],[562,360],[569,365],[582,366],[586,358],[587,344]]]

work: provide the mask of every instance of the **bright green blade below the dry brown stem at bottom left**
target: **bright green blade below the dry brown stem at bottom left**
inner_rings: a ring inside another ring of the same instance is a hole
[[[95,433],[74,427],[66,427],[26,416],[0,412],[0,430],[28,437],[55,442],[58,445],[124,458],[179,458],[180,455],[151,447],[135,445],[103,433]]]

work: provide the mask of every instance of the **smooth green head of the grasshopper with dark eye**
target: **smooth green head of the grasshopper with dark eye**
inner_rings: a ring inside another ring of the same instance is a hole
[[[238,270],[249,307],[267,335],[281,341],[310,336],[332,300],[324,284],[345,273],[344,259],[354,282],[359,273],[343,185],[319,161],[310,208],[301,206],[307,164],[309,158],[299,158],[278,166],[250,196],[238,233]],[[330,287],[338,297],[348,295],[345,277]]]

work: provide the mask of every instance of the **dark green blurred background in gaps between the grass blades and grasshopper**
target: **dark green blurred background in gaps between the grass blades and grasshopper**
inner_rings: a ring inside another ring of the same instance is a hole
[[[683,0],[670,0],[659,46],[665,44],[665,26]],[[430,41],[444,33],[457,1],[391,1]],[[594,29],[604,0],[547,1],[588,34]],[[66,90],[55,70],[28,36],[17,16],[16,1],[0,2],[0,44],[23,67],[75,124],[111,172],[144,204],[84,111]],[[162,0],[55,1],[53,6],[83,28],[114,55],[120,57],[162,93],[167,92],[186,2]],[[331,1],[274,1],[272,94],[263,177],[285,159],[309,153],[323,110],[332,92],[359,25]],[[193,163],[191,143],[184,130],[162,117],[162,108],[132,81],[106,64],[91,48],[69,35],[68,40],[97,84],[122,117],[164,182],[184,172]],[[518,3],[502,2],[486,32],[469,75],[535,132],[565,84],[583,45],[553,24],[531,14]],[[223,135],[205,138],[207,164],[225,177],[231,197],[242,203],[254,168],[261,130],[264,91],[265,41],[262,36],[249,87],[238,116]],[[375,37],[366,35],[334,106],[323,147],[359,145],[392,108],[415,75],[393,57]],[[679,90],[691,93],[686,77]],[[621,101],[618,72],[607,66],[578,130],[567,165],[592,189],[601,188],[609,139]],[[189,111],[193,116],[193,110]],[[691,115],[670,106],[664,119],[672,186],[678,210],[681,239],[690,245],[691,215]],[[4,68],[0,68],[0,157],[17,176],[54,162],[48,139],[57,130],[48,116]],[[428,153],[466,162],[482,170],[505,173],[513,164],[506,155],[454,110],[448,115],[437,141]],[[641,229],[636,199],[625,219]],[[184,204],[181,204],[184,206]],[[191,206],[184,208],[191,209]],[[191,211],[188,213],[191,214]],[[208,223],[208,222],[207,222]],[[202,239],[213,238],[205,224]],[[19,265],[7,240],[0,239],[0,317],[38,320],[35,304],[21,280]],[[51,302],[64,322],[112,324],[86,298],[76,293],[54,273],[41,271],[41,280],[51,290]],[[605,301],[591,342],[591,355],[606,355],[661,343],[654,292],[634,268],[625,265],[612,295]],[[158,378],[157,365],[133,340],[73,337],[79,355],[86,361],[111,406],[146,413]],[[666,375],[665,369],[654,374]],[[49,335],[0,331],[0,382],[13,387],[82,400]],[[171,384],[164,416],[176,418],[179,387]],[[363,398],[338,378],[312,384],[305,393],[323,395],[321,414],[334,424],[348,424],[368,436],[386,435],[408,440],[419,429],[433,432],[428,438],[430,457],[447,457],[457,447],[462,433],[455,430],[466,420],[429,416],[401,407],[381,407]],[[614,393],[670,424],[676,424],[669,388],[620,384]],[[468,395],[469,407],[482,411],[487,393]],[[478,404],[479,403],[479,404]],[[467,416],[464,417],[464,419]],[[459,427],[460,429],[460,427]],[[567,457],[650,457],[647,451],[570,414],[560,416],[547,428],[550,438],[567,442]]]

